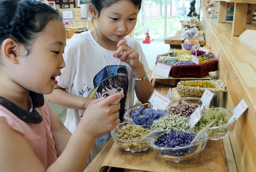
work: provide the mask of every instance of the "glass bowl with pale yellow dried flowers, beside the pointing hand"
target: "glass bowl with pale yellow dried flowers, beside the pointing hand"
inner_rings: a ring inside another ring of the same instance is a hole
[[[141,139],[148,133],[150,125],[134,125],[132,121],[126,121],[116,126],[111,131],[111,136],[121,149],[134,153],[150,148],[149,141]]]

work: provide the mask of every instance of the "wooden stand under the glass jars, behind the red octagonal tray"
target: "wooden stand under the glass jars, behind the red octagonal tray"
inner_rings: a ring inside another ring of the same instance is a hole
[[[199,36],[196,37],[198,40],[199,44],[201,46],[205,45],[205,40],[204,40],[204,32],[203,31],[198,31]],[[182,39],[182,30],[178,31],[175,36],[173,37],[168,37],[164,39],[164,43],[170,44],[171,48],[181,48],[181,44],[184,42],[184,39]]]

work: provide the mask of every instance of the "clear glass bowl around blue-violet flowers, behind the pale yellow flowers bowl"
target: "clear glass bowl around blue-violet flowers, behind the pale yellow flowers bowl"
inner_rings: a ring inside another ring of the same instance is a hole
[[[136,122],[136,121],[133,121],[133,119],[132,119],[133,113],[136,113],[136,111],[138,111],[138,110],[139,110],[140,108],[142,108],[142,107],[144,107],[144,109],[152,109],[152,108],[153,108],[153,105],[150,104],[150,103],[145,103],[145,104],[142,104],[142,105],[140,105],[140,106],[136,106],[136,107],[134,107],[134,108],[132,108],[132,109],[129,109],[129,110],[125,113],[124,119],[127,120],[127,121],[132,121],[132,123],[134,123],[134,124],[136,124],[136,125],[142,125],[141,122]],[[157,111],[162,111],[162,110],[158,109]],[[160,114],[155,115],[154,120],[157,120],[159,117],[160,117]],[[152,119],[152,118],[150,118],[150,119]],[[146,122],[146,121],[147,121],[147,122]],[[153,120],[149,120],[149,118],[144,117],[144,123],[145,123],[145,125],[152,125]],[[143,124],[143,125],[144,125],[144,124]]]

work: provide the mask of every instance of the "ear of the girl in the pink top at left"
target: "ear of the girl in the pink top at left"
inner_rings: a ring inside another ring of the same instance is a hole
[[[11,38],[5,39],[2,43],[2,55],[13,64],[18,64],[18,43]]]

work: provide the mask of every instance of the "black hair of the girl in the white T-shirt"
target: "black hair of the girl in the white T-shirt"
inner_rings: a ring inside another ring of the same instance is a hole
[[[89,4],[92,4],[96,8],[98,12],[97,14],[98,16],[100,16],[100,12],[103,8],[107,8],[118,1],[120,0],[89,0]],[[128,0],[128,1],[132,2],[132,4],[134,4],[140,10],[142,0]]]

